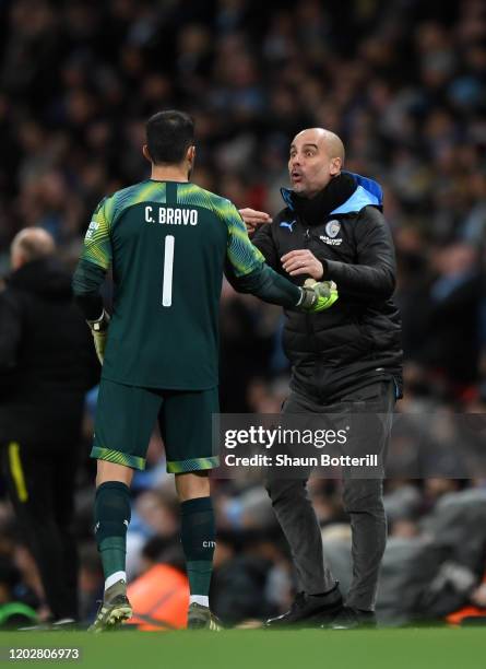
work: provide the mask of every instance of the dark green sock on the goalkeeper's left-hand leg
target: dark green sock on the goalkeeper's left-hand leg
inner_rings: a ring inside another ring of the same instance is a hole
[[[127,528],[131,518],[130,490],[120,481],[107,481],[96,490],[95,537],[105,574],[105,590],[127,582]]]

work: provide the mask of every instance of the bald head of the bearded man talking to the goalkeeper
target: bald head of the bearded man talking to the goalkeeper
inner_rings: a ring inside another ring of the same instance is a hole
[[[295,192],[312,198],[341,174],[344,144],[324,128],[307,128],[291,144],[288,172]]]

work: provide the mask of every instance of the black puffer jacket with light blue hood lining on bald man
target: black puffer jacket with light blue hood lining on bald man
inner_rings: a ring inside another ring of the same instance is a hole
[[[263,225],[253,244],[266,262],[287,275],[281,258],[308,248],[324,266],[324,279],[339,287],[325,312],[285,312],[284,349],[293,365],[292,387],[322,401],[393,378],[402,394],[400,315],[393,240],[381,213],[380,186],[343,173],[312,200],[282,189],[287,204]],[[307,277],[293,279],[301,285]],[[292,278],[291,278],[292,279]]]

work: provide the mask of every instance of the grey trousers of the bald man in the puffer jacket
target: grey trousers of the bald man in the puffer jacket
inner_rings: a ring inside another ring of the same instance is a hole
[[[332,404],[321,404],[292,392],[282,412],[339,414],[335,420],[345,420],[349,413],[359,414],[359,418],[369,416],[363,422],[361,434],[349,444],[349,455],[367,455],[372,439],[372,451],[378,453],[384,461],[394,402],[394,384],[383,380],[343,396]],[[266,482],[266,490],[291,547],[301,589],[309,595],[330,590],[335,585],[335,578],[324,564],[321,530],[307,495],[307,480],[273,479]],[[346,605],[371,611],[375,609],[379,568],[387,542],[382,479],[348,478],[344,473],[343,504],[351,518],[353,559],[353,580]]]

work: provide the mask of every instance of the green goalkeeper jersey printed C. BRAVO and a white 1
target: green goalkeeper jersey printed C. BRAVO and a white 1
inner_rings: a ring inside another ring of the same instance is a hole
[[[236,277],[263,265],[229,200],[191,183],[153,179],[105,198],[74,275],[82,293],[92,269],[100,284],[112,268],[103,377],[180,390],[216,386],[225,262]]]

